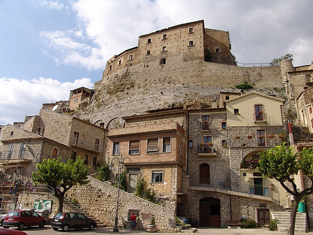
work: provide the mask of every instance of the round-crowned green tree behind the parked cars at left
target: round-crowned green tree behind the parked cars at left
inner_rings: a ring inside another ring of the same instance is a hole
[[[83,166],[83,162],[80,156],[76,162],[70,159],[67,164],[63,164],[60,158],[45,159],[43,164],[37,164],[37,173],[32,173],[35,184],[45,184],[54,189],[54,195],[59,199],[59,212],[63,211],[64,195],[68,189],[77,184],[89,183],[87,180],[89,167]]]

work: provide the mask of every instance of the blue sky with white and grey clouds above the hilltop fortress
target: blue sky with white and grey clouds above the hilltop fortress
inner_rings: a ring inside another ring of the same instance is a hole
[[[313,0],[0,0],[0,125],[92,88],[138,37],[204,20],[239,63],[313,61]]]

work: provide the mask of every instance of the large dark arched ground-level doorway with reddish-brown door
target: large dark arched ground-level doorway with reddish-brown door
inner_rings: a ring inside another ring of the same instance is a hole
[[[214,197],[202,198],[199,201],[200,227],[221,228],[221,202]]]

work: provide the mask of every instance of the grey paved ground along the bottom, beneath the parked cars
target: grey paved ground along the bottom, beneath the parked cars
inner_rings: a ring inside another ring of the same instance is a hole
[[[10,228],[14,229],[15,228]],[[66,234],[82,234],[82,235],[99,235],[99,234],[120,234],[120,235],[152,235],[152,233],[147,233],[145,231],[129,231],[125,229],[120,229],[119,233],[113,233],[112,228],[96,228],[93,231],[88,229],[83,230],[69,230],[67,233],[61,230],[54,231],[50,226],[46,225],[44,228],[31,227],[25,228],[23,230],[28,235],[66,235]],[[155,233],[156,235],[175,235],[177,233]],[[179,233],[181,234],[181,233]],[[287,232],[272,232],[263,229],[205,229],[201,228],[194,235],[286,235]],[[192,235],[191,233],[184,233],[184,235]],[[295,235],[313,235],[313,231],[309,233],[295,233]]]

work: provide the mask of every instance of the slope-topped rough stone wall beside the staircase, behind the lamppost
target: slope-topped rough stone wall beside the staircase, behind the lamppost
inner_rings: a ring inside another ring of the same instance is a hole
[[[118,189],[92,177],[89,177],[89,180],[90,183],[87,185],[71,188],[67,192],[67,197],[75,198],[84,210],[103,221],[107,226],[113,227]],[[150,224],[150,219],[145,216],[149,214],[149,217],[155,216],[157,230],[164,232],[176,230],[174,211],[120,190],[118,226],[126,226],[130,211],[139,212],[140,229],[144,229],[147,224]]]

